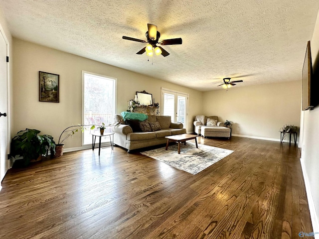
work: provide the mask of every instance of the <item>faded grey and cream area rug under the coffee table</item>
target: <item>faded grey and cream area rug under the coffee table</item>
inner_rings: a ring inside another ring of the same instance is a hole
[[[177,143],[169,145],[167,150],[162,147],[141,153],[195,175],[232,152],[234,151],[203,144],[198,144],[196,148],[195,143],[186,142],[186,145],[180,145],[180,154],[177,153]]]

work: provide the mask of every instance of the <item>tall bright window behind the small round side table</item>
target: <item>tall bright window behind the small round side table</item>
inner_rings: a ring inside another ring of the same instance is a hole
[[[114,123],[116,86],[116,78],[82,71],[82,122],[84,124]],[[111,132],[111,127],[106,127],[105,132]],[[102,142],[109,141],[109,138],[102,137]],[[90,130],[84,131],[82,143],[92,143]]]

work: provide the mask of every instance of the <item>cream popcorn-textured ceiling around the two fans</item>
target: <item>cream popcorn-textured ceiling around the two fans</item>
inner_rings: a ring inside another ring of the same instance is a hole
[[[200,91],[300,80],[318,0],[0,0],[16,38]],[[147,23],[169,56],[136,52]],[[235,80],[235,79],[233,79]]]

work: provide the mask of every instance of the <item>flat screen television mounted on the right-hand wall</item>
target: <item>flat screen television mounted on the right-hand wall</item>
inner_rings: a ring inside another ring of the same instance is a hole
[[[313,81],[313,63],[311,60],[310,41],[307,43],[306,56],[303,66],[303,95],[302,95],[302,110],[313,110],[314,95],[312,94]]]

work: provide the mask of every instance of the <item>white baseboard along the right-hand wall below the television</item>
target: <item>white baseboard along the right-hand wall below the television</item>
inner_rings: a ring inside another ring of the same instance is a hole
[[[317,233],[315,234],[315,239],[319,239],[319,218],[318,218],[319,215],[317,215],[317,210],[316,210],[313,194],[311,192],[311,187],[310,187],[310,182],[309,182],[307,171],[306,171],[305,161],[303,160],[303,158],[300,158],[300,162],[301,162],[301,167],[302,167],[303,175],[304,175],[310,217],[311,217],[313,230],[314,230],[313,233]],[[311,233],[311,232],[307,232],[307,233]]]

